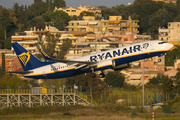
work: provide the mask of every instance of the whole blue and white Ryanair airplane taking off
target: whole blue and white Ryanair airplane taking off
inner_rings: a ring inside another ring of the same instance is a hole
[[[65,78],[91,72],[92,78],[96,71],[101,71],[100,78],[105,77],[104,70],[121,70],[129,67],[129,63],[145,58],[164,55],[173,48],[173,44],[161,40],[144,41],[102,51],[70,60],[49,57],[43,50],[39,50],[46,60],[42,62],[19,43],[11,43],[24,71],[10,71],[23,74],[24,77],[34,79]]]

